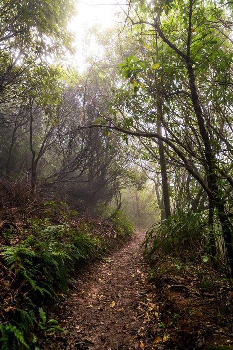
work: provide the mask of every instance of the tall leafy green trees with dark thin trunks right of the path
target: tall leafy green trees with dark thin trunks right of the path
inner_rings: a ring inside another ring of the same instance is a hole
[[[215,256],[221,243],[233,276],[231,4],[128,4],[134,50],[118,64],[114,117],[105,127],[139,140],[132,142],[135,159],[154,181],[166,218],[150,231],[159,239],[155,250],[175,244],[181,255],[187,248],[187,255],[211,249]],[[179,207],[184,214],[176,218]],[[203,221],[208,228],[199,227]]]

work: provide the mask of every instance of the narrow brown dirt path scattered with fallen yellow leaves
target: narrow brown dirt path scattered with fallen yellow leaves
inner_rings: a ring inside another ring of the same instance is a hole
[[[148,267],[140,246],[145,233],[104,261],[95,263],[76,282],[68,299],[59,305],[60,324],[71,333],[57,349],[137,349],[142,326],[137,306],[146,289]]]

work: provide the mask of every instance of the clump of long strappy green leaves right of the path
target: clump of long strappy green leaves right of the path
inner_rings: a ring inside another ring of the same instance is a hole
[[[174,215],[155,223],[146,232],[144,256],[154,259],[164,253],[188,261],[205,259],[209,251],[207,223],[203,213],[177,208]]]

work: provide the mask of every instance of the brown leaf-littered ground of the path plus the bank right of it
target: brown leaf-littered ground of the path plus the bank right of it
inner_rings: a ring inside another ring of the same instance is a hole
[[[212,271],[204,279],[201,266],[182,267],[170,256],[153,275],[142,255],[144,236],[137,231],[84,267],[50,314],[69,332],[47,333],[41,349],[233,349],[231,297],[221,276]]]

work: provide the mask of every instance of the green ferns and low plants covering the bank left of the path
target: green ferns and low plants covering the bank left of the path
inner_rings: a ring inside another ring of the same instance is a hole
[[[93,233],[91,221],[81,221],[75,228],[68,223],[53,226],[48,218],[30,220],[28,230],[17,237],[3,232],[1,257],[8,297],[3,296],[2,350],[39,350],[40,332],[63,331],[56,320],[47,319],[44,305],[56,300],[58,292],[67,292],[81,263],[100,256],[115,240],[122,241],[132,233],[122,214],[112,224],[111,239]]]

